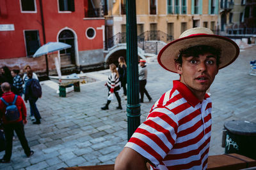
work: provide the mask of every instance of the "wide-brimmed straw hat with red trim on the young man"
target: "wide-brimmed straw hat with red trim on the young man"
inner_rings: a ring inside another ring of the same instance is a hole
[[[164,46],[157,60],[164,69],[177,73],[174,59],[179,57],[180,50],[197,45],[208,45],[221,50],[219,69],[234,62],[239,55],[239,47],[231,39],[214,35],[210,29],[195,27],[184,31],[179,39]]]

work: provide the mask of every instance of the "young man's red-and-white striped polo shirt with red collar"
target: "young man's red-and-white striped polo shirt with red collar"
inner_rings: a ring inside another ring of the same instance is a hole
[[[173,81],[125,147],[150,160],[153,169],[206,169],[211,108],[207,94],[200,102],[186,85]]]

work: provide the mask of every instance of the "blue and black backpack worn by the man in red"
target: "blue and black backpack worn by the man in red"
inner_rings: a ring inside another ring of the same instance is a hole
[[[16,120],[19,120],[19,118],[20,118],[20,112],[19,112],[17,106],[15,105],[15,103],[17,101],[17,97],[18,96],[15,95],[12,103],[7,103],[6,101],[4,101],[3,97],[0,98],[1,101],[3,101],[3,103],[6,105],[5,118],[9,122],[15,122]]]

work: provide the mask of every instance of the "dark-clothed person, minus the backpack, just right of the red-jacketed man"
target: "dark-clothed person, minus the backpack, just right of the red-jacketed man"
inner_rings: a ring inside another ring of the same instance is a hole
[[[27,103],[29,101],[29,106],[30,106],[30,116],[31,117],[35,117],[36,121],[33,122],[33,124],[41,124],[40,119],[40,113],[36,107],[36,101],[38,100],[38,97],[33,96],[32,90],[31,90],[31,83],[33,81],[38,81],[33,77],[33,72],[32,71],[28,71],[28,81],[26,81],[26,85],[25,85],[25,102]]]

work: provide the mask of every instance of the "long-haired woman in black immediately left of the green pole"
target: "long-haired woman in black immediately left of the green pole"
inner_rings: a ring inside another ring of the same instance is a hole
[[[118,74],[119,74],[119,80],[121,82],[121,87],[123,87],[124,90],[124,96],[125,99],[127,99],[127,90],[126,90],[126,83],[127,83],[127,66],[124,57],[118,58]]]

